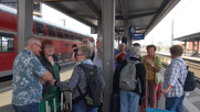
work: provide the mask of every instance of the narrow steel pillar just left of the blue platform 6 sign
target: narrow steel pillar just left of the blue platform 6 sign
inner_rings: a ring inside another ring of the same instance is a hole
[[[125,31],[124,35],[127,38],[127,48],[130,48],[131,47],[131,40],[130,40],[130,37],[128,35],[128,20],[127,19],[124,20],[124,31]]]

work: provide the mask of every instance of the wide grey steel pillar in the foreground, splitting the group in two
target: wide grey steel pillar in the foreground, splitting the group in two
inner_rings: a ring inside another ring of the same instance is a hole
[[[113,90],[115,0],[102,0],[103,19],[103,74],[105,79],[103,112],[110,112]]]

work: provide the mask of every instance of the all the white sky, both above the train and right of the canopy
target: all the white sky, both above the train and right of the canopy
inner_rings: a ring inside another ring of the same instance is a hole
[[[161,42],[162,45],[171,45],[171,24],[173,21],[173,37],[181,37],[192,33],[199,32],[200,29],[200,0],[180,0],[180,2],[165,16],[165,19],[145,37],[144,41],[137,41],[141,45],[157,44]],[[61,12],[42,4],[43,19],[54,23],[64,24],[72,30],[77,30],[91,35],[91,27],[65,15]],[[97,35],[92,34],[95,38]],[[135,43],[135,42],[133,42]],[[180,42],[173,41],[173,44]]]

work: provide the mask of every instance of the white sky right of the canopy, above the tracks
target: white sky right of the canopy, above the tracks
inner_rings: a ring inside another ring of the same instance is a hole
[[[157,44],[171,45],[171,24],[173,21],[173,38],[197,33],[200,30],[200,0],[180,0],[166,18],[145,37],[137,41],[141,45]],[[179,41],[173,41],[179,44]]]

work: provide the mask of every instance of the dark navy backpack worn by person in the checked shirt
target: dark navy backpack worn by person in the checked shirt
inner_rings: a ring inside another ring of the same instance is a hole
[[[180,60],[179,60],[180,61]],[[182,63],[182,61],[181,61]],[[187,69],[189,67],[187,66]],[[178,78],[179,82],[182,85],[182,82],[180,81],[180,79]],[[193,91],[196,89],[196,77],[194,77],[194,74],[193,71],[190,71],[188,69],[188,74],[187,74],[187,77],[186,77],[186,81],[185,81],[185,85],[183,86],[183,91]]]

